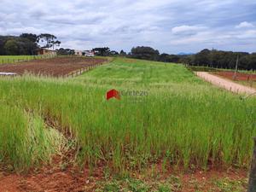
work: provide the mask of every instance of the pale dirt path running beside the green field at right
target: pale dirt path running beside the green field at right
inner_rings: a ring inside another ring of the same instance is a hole
[[[218,76],[215,76],[207,72],[196,72],[196,75],[201,79],[204,79],[214,85],[217,85],[218,87],[224,88],[225,90],[230,90],[234,93],[245,93],[248,95],[256,93],[256,90],[253,88],[241,84],[236,84],[230,80],[222,79]]]

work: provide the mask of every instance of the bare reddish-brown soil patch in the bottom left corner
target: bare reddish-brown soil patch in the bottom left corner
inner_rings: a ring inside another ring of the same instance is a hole
[[[75,166],[63,166],[63,163],[61,157],[56,157],[54,166],[43,166],[28,173],[0,172],[0,191],[94,191],[96,181],[101,180],[103,177],[101,168],[89,174],[89,169],[80,170],[79,167]]]

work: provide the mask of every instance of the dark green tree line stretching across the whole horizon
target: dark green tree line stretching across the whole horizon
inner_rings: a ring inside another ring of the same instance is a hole
[[[36,55],[37,49],[55,49],[61,42],[55,35],[42,33],[22,33],[20,36],[0,36],[0,55]],[[96,55],[126,56],[136,59],[185,63],[191,66],[235,68],[238,59],[238,68],[256,70],[256,53],[223,51],[217,49],[202,49],[192,55],[160,54],[159,50],[147,46],[137,46],[128,54],[124,50],[117,52],[108,47],[92,49]],[[74,55],[74,49],[56,49],[58,55]]]

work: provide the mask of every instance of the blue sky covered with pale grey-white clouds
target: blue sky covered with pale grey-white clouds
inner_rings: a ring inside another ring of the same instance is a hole
[[[0,35],[55,34],[61,46],[256,52],[254,0],[0,0]]]

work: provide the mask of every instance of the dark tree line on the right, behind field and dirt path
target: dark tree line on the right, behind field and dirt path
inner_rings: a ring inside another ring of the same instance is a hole
[[[256,70],[256,53],[233,52],[217,49],[202,49],[200,52],[192,55],[169,55],[160,54],[157,49],[151,47],[138,46],[131,49],[127,55],[131,58],[184,63],[191,66],[231,68],[236,67],[238,59],[238,68],[245,70]]]

